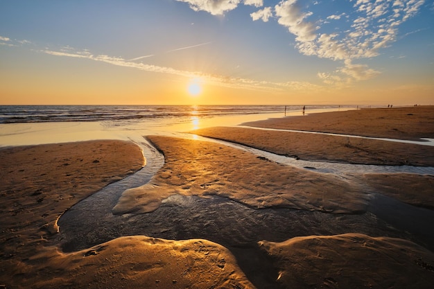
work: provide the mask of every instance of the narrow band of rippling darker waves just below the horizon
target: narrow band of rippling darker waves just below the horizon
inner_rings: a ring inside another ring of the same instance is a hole
[[[306,105],[306,111],[338,109],[338,105]],[[346,105],[340,107],[355,107]],[[302,111],[302,105],[0,105],[0,123],[71,121],[189,121],[192,116],[273,114]]]

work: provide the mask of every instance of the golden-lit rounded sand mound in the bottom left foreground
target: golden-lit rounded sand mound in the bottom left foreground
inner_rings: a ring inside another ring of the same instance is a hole
[[[13,288],[254,288],[232,254],[207,240],[122,237],[69,254],[46,247],[28,263],[11,264],[24,276]]]

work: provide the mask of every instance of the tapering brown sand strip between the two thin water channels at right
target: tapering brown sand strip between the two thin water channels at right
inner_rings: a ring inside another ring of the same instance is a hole
[[[308,161],[434,166],[434,146],[237,127],[204,128],[191,133]]]

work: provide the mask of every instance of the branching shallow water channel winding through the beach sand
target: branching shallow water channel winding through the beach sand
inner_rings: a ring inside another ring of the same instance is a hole
[[[190,137],[180,134],[179,137]],[[199,137],[202,140],[208,140]],[[278,288],[277,272],[257,242],[280,242],[295,236],[334,235],[349,232],[413,240],[434,250],[434,211],[404,204],[372,192],[366,213],[340,215],[295,209],[254,209],[221,197],[199,198],[172,195],[151,213],[115,216],[112,208],[126,189],[149,182],[164,165],[164,157],[145,139],[134,139],[144,150],[146,166],[134,175],[110,184],[74,205],[58,220],[57,241],[65,252],[85,249],[120,236],[146,235],[183,240],[204,238],[227,247],[257,288]],[[215,140],[211,140],[215,141]],[[434,175],[434,168],[413,166],[367,166],[300,161],[270,152],[218,141],[248,150],[272,161],[318,173],[417,173]]]

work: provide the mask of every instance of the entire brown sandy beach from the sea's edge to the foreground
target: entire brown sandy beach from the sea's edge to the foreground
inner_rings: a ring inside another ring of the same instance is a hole
[[[2,288],[434,283],[434,146],[424,140],[434,139],[434,107],[308,111],[143,137],[164,163],[107,204],[98,191],[152,162],[137,143],[0,148]],[[329,173],[315,162],[362,167]]]

